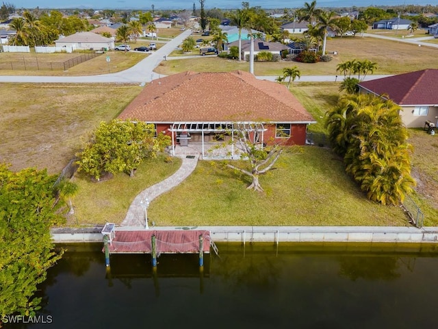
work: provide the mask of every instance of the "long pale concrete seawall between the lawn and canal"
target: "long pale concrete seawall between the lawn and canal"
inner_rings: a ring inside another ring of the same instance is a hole
[[[55,228],[55,243],[102,242],[103,226],[92,228]],[[438,243],[438,227],[398,226],[196,226],[155,227],[151,230],[209,230],[214,242],[368,242],[368,243]],[[139,227],[118,227],[142,230]]]

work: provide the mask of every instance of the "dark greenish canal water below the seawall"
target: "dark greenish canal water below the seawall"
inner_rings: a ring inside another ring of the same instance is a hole
[[[61,246],[60,246],[61,247]],[[66,254],[20,328],[437,328],[438,246],[218,243],[219,256]],[[13,327],[11,327],[13,328]]]

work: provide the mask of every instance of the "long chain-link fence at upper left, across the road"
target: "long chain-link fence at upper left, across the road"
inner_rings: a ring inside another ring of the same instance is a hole
[[[67,71],[70,67],[101,56],[102,53],[83,53],[75,58],[70,58],[62,62],[47,62],[35,58],[17,58],[16,60],[0,61],[0,70],[12,71]]]

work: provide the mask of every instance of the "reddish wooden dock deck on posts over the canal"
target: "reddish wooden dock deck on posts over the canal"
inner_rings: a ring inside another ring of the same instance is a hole
[[[152,254],[152,236],[155,236],[157,255],[198,254],[200,249],[208,254],[210,232],[207,230],[138,230],[116,231],[108,245],[110,254]],[[203,247],[200,239],[203,237]]]

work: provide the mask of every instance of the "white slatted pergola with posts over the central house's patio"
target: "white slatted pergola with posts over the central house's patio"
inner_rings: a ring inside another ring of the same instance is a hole
[[[172,125],[170,125],[170,128],[168,129],[169,132],[172,132],[172,156],[175,156],[175,133],[187,133],[190,134],[190,132],[197,132],[201,133],[201,145],[202,145],[202,156],[205,156],[205,140],[204,140],[204,134],[205,133],[224,133],[227,132],[231,134],[231,156],[234,156],[235,149],[234,149],[234,132],[235,131],[242,131],[245,132],[261,132],[261,145],[263,145],[263,132],[266,132],[266,128],[263,126],[263,123],[259,122],[231,122],[231,121],[216,121],[216,122],[175,122]],[[187,138],[190,139],[190,137],[177,137],[178,139]]]

